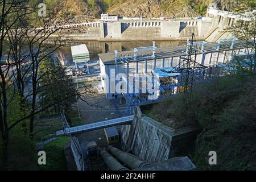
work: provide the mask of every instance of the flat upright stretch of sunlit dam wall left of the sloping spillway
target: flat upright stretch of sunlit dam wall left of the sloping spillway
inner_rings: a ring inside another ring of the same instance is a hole
[[[101,22],[100,40],[185,40],[194,32],[197,39],[209,31],[210,21],[203,20],[173,20],[158,22]]]

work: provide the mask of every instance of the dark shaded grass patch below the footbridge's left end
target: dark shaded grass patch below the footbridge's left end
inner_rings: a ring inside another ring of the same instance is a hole
[[[61,136],[55,141],[44,146],[46,152],[46,165],[38,165],[40,170],[63,171],[68,170],[64,147],[68,142],[68,137]]]

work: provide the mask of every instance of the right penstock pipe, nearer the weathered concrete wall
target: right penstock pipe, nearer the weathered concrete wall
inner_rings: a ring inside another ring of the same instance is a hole
[[[123,152],[113,146],[109,146],[109,150],[114,156],[116,156],[123,163],[127,164],[127,166],[131,169],[142,168],[150,164],[142,160],[139,160],[135,158],[135,156],[127,154],[126,152]]]

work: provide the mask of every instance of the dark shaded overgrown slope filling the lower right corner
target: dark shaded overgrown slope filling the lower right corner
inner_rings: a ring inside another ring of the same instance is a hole
[[[201,128],[192,156],[197,169],[256,169],[255,75],[224,76],[197,84],[190,102],[184,102],[181,94],[146,113],[161,122],[173,118],[174,127]],[[208,163],[209,151],[217,152],[216,166]]]

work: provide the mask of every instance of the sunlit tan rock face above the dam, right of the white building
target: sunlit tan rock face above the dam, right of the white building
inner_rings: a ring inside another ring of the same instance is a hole
[[[127,0],[114,3],[109,7],[109,14],[119,16],[142,16],[157,18],[159,16],[191,17],[205,15],[212,3],[220,10],[240,11],[241,5],[236,0]],[[239,6],[238,6],[239,5]]]

